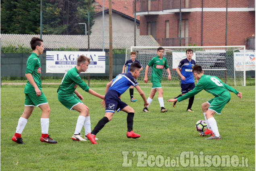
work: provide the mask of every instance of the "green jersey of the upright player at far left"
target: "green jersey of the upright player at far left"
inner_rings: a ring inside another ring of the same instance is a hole
[[[35,81],[35,84],[37,85],[38,89],[41,89],[41,64],[40,59],[37,54],[34,52],[29,56],[27,59],[26,64],[26,74],[31,74],[33,76],[33,79]],[[27,84],[24,89],[24,93],[31,93],[35,91],[35,88],[30,84],[29,80],[27,80]]]

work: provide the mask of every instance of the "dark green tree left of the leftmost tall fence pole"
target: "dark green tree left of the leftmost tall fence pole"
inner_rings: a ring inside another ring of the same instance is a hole
[[[2,34],[39,34],[40,0],[1,0]]]

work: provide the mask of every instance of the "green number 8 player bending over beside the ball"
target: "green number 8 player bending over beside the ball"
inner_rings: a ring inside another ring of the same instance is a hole
[[[213,115],[214,113],[221,114],[221,110],[227,103],[229,103],[231,99],[229,91],[235,93],[240,99],[242,98],[242,93],[223,83],[216,76],[204,75],[204,71],[200,65],[195,65],[192,72],[195,78],[198,80],[196,87],[185,95],[178,97],[177,99],[169,99],[168,101],[183,101],[196,95],[202,90],[205,90],[206,92],[214,95],[215,97],[213,99],[210,99],[209,101],[206,101],[202,104],[202,111],[206,120],[207,129],[204,132],[200,132],[199,134],[202,136],[210,135],[210,137],[205,138],[206,140],[221,139],[217,123]]]

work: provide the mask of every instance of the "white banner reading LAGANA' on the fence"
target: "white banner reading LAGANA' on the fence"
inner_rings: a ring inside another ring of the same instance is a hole
[[[46,51],[46,72],[66,73],[77,66],[79,55],[85,55],[91,59],[89,68],[83,73],[105,73],[105,52],[72,52],[72,51]]]

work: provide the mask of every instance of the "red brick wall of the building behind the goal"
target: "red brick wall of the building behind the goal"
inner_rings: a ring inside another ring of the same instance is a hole
[[[191,8],[201,7],[202,0],[190,0]],[[246,8],[249,0],[229,0],[229,8]],[[216,6],[218,4],[218,6]],[[225,8],[226,0],[204,0],[204,8]],[[188,19],[189,43],[201,45],[202,12],[182,12],[182,19]],[[169,21],[169,37],[179,37],[179,12],[140,17],[140,35],[147,35],[147,22],[157,22],[156,39],[162,45],[165,38],[165,21]],[[245,45],[246,37],[255,34],[255,11],[228,12],[227,45]],[[226,12],[203,12],[203,45],[225,45]]]

